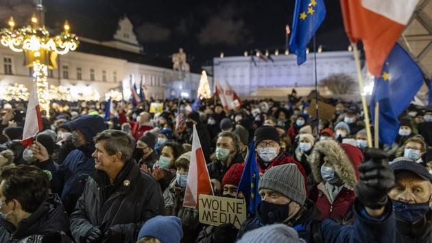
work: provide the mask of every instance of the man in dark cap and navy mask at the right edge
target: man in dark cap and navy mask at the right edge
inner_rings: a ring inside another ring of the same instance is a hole
[[[431,174],[404,157],[390,167],[396,178],[396,187],[389,192],[396,215],[396,242],[432,242]]]

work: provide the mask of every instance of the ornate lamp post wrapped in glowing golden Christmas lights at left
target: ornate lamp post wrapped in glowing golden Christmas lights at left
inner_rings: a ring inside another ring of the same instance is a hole
[[[25,54],[25,66],[33,68],[40,107],[48,116],[48,69],[57,69],[57,55],[74,51],[80,42],[75,34],[69,32],[71,26],[67,21],[63,25],[63,32],[51,37],[45,28],[42,0],[38,1],[36,10],[38,16],[33,14],[31,25],[24,27],[16,28],[14,19],[10,17],[9,28],[0,30],[0,43],[12,51]]]

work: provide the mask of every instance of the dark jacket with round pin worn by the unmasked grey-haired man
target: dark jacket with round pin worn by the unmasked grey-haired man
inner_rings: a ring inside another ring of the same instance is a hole
[[[158,183],[130,160],[112,184],[105,172],[92,172],[71,214],[71,233],[80,242],[99,227],[110,229],[121,242],[135,242],[147,220],[164,214],[163,207]]]

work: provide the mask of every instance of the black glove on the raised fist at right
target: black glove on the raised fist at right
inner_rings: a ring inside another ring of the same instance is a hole
[[[355,194],[366,207],[380,209],[387,204],[387,193],[394,186],[394,172],[383,150],[366,148],[364,155],[365,162],[358,167],[360,180]]]

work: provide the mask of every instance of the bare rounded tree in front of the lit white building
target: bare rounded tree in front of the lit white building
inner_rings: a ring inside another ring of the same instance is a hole
[[[355,92],[355,80],[345,73],[335,73],[320,81],[333,95],[344,95]]]

